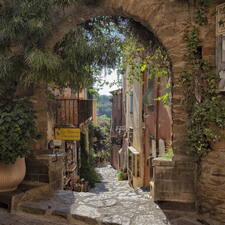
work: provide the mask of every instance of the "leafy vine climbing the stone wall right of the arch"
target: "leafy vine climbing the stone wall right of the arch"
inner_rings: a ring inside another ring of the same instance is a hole
[[[203,14],[207,18],[206,11]],[[202,57],[198,25],[207,21],[202,23],[201,18],[184,38],[188,63],[181,79],[189,117],[188,144],[199,160],[212,150],[213,143],[223,138],[219,131],[225,129],[225,99],[218,93],[219,77],[215,66]]]

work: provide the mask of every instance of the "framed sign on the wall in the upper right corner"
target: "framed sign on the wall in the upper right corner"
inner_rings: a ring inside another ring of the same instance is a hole
[[[225,3],[216,7],[216,35],[225,34]]]

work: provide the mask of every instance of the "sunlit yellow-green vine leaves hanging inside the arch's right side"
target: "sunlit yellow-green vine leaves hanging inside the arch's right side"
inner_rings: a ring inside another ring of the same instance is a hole
[[[170,61],[166,51],[158,45],[148,43],[148,47],[137,43],[135,39],[129,38],[123,49],[124,53],[124,68],[128,68],[127,80],[130,88],[134,81],[138,81],[143,84],[143,76],[147,75],[148,80],[151,80],[154,85],[155,80],[159,78],[167,78],[163,81],[158,81],[157,85],[160,85],[164,91],[161,96],[158,96],[154,100],[162,101],[164,106],[170,105],[171,102],[171,68]],[[151,87],[151,95],[153,95],[153,87]],[[147,104],[150,104],[149,102]]]

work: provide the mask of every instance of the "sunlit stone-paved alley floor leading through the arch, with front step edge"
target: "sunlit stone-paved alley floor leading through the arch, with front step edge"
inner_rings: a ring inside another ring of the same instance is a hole
[[[20,212],[10,216],[1,212],[0,225],[71,223],[77,225],[200,225],[195,213],[161,210],[148,192],[134,191],[127,181],[118,181],[116,170],[105,165],[97,169],[102,183],[89,193],[58,191],[48,199],[25,202]],[[27,217],[28,215],[28,217]],[[30,223],[34,216],[33,223]],[[37,217],[38,216],[38,217]],[[17,218],[17,220],[15,220]],[[4,222],[4,221],[5,222]],[[27,222],[24,222],[27,220]],[[8,221],[8,223],[6,223]],[[38,222],[39,221],[39,222]]]

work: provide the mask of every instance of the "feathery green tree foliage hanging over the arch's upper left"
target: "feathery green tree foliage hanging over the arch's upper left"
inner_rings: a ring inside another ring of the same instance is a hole
[[[91,19],[75,28],[57,44],[55,51],[45,49],[44,42],[52,33],[52,24],[65,7],[78,0],[19,0],[6,1],[0,8],[0,64],[5,68],[0,83],[15,84],[45,81],[58,87],[78,90],[97,79],[102,68],[115,66],[120,53],[121,38],[113,35],[115,24],[122,19],[101,17]],[[79,0],[96,5],[99,0]],[[22,60],[14,65],[11,58]],[[8,65],[19,67],[12,78]],[[11,85],[10,85],[11,87]],[[0,94],[12,92],[1,85]],[[7,94],[4,94],[7,95]]]

